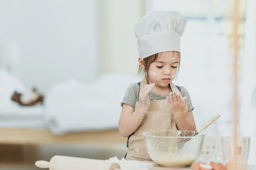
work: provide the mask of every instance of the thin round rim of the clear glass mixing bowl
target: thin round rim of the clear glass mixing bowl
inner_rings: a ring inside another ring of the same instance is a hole
[[[157,136],[157,135],[150,135],[148,133],[152,133],[152,132],[163,132],[163,131],[178,131],[179,132],[196,132],[196,131],[188,131],[188,130],[158,130],[158,131],[147,131],[147,132],[143,132],[143,136],[144,137],[156,137],[156,138],[196,138],[196,137],[201,137],[201,136],[205,136],[204,132],[200,132],[198,134],[196,134],[195,136]]]

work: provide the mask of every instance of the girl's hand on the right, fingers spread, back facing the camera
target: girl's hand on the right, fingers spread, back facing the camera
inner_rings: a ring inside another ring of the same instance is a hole
[[[182,97],[180,96],[180,94],[177,94],[176,92],[171,92],[170,96],[166,97],[167,103],[170,104],[170,110],[176,116],[177,114],[184,112],[186,100],[187,97]]]

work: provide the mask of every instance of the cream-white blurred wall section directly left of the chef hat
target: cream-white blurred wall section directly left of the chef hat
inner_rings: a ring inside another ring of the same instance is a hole
[[[138,72],[134,25],[145,15],[144,0],[98,0],[99,73]]]

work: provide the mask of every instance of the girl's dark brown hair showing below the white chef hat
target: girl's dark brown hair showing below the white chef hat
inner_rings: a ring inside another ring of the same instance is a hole
[[[179,53],[179,57],[180,57],[180,52],[175,52],[174,54],[177,55],[178,53]],[[148,82],[148,69],[150,67],[150,64],[152,62],[154,62],[157,59],[157,57],[158,57],[158,53],[155,53],[155,54],[150,55],[149,57],[146,57],[145,59],[143,59],[145,69],[143,69],[141,66],[139,66],[138,74],[142,75],[142,76],[145,76],[147,82]],[[177,78],[177,75],[179,73],[179,69],[180,69],[180,62],[179,62],[179,65],[178,65],[178,71],[177,71],[177,74],[175,76],[175,79]]]

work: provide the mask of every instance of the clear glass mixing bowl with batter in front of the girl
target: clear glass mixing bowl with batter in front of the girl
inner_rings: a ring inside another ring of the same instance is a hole
[[[191,165],[200,154],[204,133],[195,131],[144,132],[145,145],[150,158],[161,166],[184,167]]]

